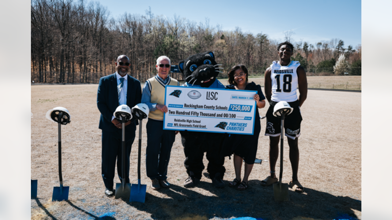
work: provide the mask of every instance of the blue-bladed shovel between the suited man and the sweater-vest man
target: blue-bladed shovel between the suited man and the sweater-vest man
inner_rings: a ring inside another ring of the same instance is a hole
[[[142,203],[144,203],[144,200],[146,198],[147,185],[140,184],[140,154],[142,151],[142,121],[143,121],[143,119],[140,119],[139,153],[138,153],[138,184],[132,184],[131,197],[129,198],[129,202],[142,202]]]

